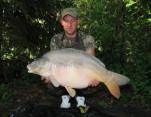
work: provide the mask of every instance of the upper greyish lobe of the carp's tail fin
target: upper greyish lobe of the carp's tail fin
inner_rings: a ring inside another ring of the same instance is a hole
[[[121,74],[118,74],[118,73],[115,73],[115,72],[112,72],[112,71],[108,71],[108,75],[116,80],[116,82],[118,83],[118,85],[126,85],[128,82],[129,82],[129,78],[124,76],[124,75],[121,75]]]

